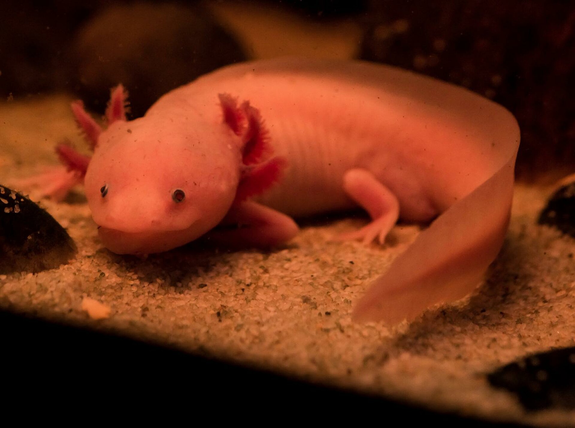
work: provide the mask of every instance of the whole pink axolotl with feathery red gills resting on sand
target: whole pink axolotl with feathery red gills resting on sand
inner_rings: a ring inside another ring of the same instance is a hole
[[[293,217],[362,207],[344,239],[384,242],[398,218],[429,223],[355,304],[394,323],[473,291],[503,244],[519,146],[515,118],[465,89],[366,62],[274,59],[221,68],[126,120],[118,86],[102,129],[81,102],[90,159],[57,148],[63,194],[83,181],[99,237],[118,254],[202,235],[268,247]],[[227,226],[219,227],[217,226]]]

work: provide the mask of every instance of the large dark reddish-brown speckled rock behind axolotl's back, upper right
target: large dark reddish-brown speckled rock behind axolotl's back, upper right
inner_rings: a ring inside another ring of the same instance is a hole
[[[519,121],[517,174],[575,171],[575,3],[373,1],[361,58],[468,87]]]

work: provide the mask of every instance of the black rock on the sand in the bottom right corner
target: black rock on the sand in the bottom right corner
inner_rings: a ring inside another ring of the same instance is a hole
[[[575,408],[575,347],[534,354],[488,375],[489,383],[517,395],[528,410]]]

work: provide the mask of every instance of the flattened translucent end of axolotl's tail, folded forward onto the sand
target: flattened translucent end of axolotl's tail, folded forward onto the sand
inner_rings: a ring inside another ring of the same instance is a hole
[[[473,291],[503,244],[515,155],[455,202],[397,257],[354,309],[354,319],[393,324]]]

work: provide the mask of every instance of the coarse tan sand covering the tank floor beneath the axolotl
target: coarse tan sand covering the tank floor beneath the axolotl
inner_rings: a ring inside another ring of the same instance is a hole
[[[0,105],[0,184],[54,163],[62,137],[83,147],[68,102]],[[575,425],[569,412],[524,413],[483,376],[527,353],[575,345],[575,242],[535,225],[548,193],[517,186],[504,249],[473,296],[395,328],[353,324],[350,312],[415,226],[394,228],[385,247],[329,242],[365,222],[339,219],[305,226],[270,253],[188,246],[143,260],[102,248],[81,189],[66,203],[42,202],[75,240],[77,257],[59,269],[0,276],[0,307],[433,408]],[[90,318],[87,297],[109,307],[108,318]]]

